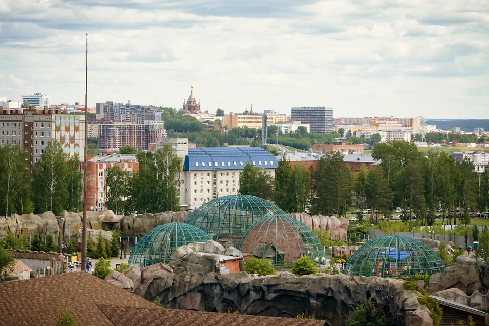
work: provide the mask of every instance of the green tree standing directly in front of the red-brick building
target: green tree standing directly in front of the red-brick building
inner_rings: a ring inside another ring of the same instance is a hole
[[[124,212],[124,201],[127,197],[127,172],[115,165],[107,168],[105,174],[105,195],[107,208],[116,215]]]

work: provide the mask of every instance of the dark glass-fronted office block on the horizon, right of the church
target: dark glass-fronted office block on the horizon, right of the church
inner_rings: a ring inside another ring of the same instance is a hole
[[[312,133],[333,132],[331,107],[292,107],[292,122],[309,124]]]

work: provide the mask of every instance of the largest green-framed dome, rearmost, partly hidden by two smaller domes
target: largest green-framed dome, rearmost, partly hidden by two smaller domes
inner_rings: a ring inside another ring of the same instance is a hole
[[[269,201],[250,195],[229,195],[211,200],[197,208],[187,224],[204,230],[215,241],[238,246],[244,232],[265,215],[285,212]]]

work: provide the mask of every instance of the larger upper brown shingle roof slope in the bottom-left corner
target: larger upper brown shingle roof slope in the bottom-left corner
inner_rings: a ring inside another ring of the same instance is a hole
[[[80,325],[113,325],[97,304],[157,307],[83,271],[4,282],[0,302],[4,325],[52,325],[63,308],[70,308]]]

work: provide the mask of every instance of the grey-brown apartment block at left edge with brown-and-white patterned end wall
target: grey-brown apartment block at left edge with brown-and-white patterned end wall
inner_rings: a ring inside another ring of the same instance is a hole
[[[80,155],[85,146],[85,116],[62,114],[59,110],[3,110],[0,114],[0,146],[20,144],[33,167],[47,143],[55,139],[68,156]],[[83,155],[80,155],[83,160]]]

